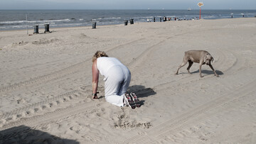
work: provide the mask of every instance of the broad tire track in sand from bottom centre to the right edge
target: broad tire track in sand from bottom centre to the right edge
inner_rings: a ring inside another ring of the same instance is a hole
[[[256,99],[254,96],[255,90],[252,90],[254,87],[256,87],[256,83],[255,80],[252,80],[252,82],[234,89],[233,92],[227,92],[217,99],[198,106],[196,109],[187,111],[174,119],[159,124],[159,126],[150,128],[145,131],[145,135],[134,135],[131,138],[119,142],[150,143],[152,140],[157,142],[159,139],[164,139],[168,135],[174,135],[176,131],[181,131],[188,126],[195,125],[198,121],[207,119],[214,113],[221,111],[221,109],[232,109],[233,107],[254,101]]]

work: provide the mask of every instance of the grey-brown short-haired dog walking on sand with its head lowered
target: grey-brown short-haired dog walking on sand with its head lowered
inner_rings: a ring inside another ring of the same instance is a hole
[[[187,68],[189,74],[191,74],[189,72],[189,69],[193,65],[193,62],[197,62],[197,63],[199,63],[200,77],[203,77],[202,74],[201,74],[201,67],[202,67],[202,65],[205,65],[205,64],[209,65],[209,67],[211,68],[211,70],[213,70],[216,77],[219,77],[219,75],[213,69],[213,66],[210,64],[210,62],[213,62],[213,57],[206,50],[189,50],[189,51],[186,51],[185,55],[183,57],[182,64],[180,66],[178,66],[178,70],[181,67],[183,67],[184,65],[186,65],[187,62],[189,63],[188,68]],[[178,74],[178,70],[177,70],[176,74]]]

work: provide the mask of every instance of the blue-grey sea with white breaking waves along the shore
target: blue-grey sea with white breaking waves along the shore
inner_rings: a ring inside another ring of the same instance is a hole
[[[166,17],[170,21],[189,21],[199,19],[199,9],[171,10],[0,10],[0,31],[33,29],[38,25],[50,24],[50,28],[119,25],[133,19],[134,23],[160,21]],[[250,18],[256,10],[202,10],[203,19]]]

